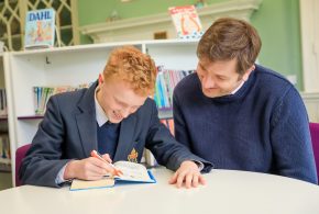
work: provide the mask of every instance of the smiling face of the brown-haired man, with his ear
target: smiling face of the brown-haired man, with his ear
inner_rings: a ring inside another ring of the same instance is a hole
[[[254,66],[241,76],[237,72],[237,59],[215,63],[200,59],[197,65],[197,75],[202,93],[208,98],[217,98],[230,94],[249,78],[253,69]]]

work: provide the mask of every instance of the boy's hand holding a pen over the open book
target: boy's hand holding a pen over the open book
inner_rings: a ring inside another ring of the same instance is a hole
[[[109,155],[106,154],[102,157],[108,162],[112,162]],[[68,162],[64,171],[64,179],[99,180],[107,173],[114,174],[114,168],[98,158],[89,157]]]

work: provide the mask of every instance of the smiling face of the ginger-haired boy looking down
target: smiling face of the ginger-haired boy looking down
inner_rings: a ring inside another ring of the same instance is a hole
[[[114,78],[102,80],[97,93],[98,102],[111,123],[120,123],[136,112],[146,98],[136,94],[128,82]]]

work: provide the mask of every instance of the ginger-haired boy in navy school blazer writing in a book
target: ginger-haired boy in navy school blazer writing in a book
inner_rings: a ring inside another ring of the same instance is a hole
[[[211,165],[178,144],[160,123],[153,100],[156,67],[139,49],[114,49],[102,78],[89,89],[54,95],[20,169],[23,183],[61,187],[72,179],[98,180],[116,173],[105,160],[141,161],[144,147],[176,173],[179,188],[205,184],[199,167]]]

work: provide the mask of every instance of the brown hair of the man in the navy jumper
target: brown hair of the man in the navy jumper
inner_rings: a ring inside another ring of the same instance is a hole
[[[261,46],[261,37],[251,24],[233,18],[221,18],[202,35],[197,56],[212,63],[237,59],[237,72],[243,75],[254,65]]]

